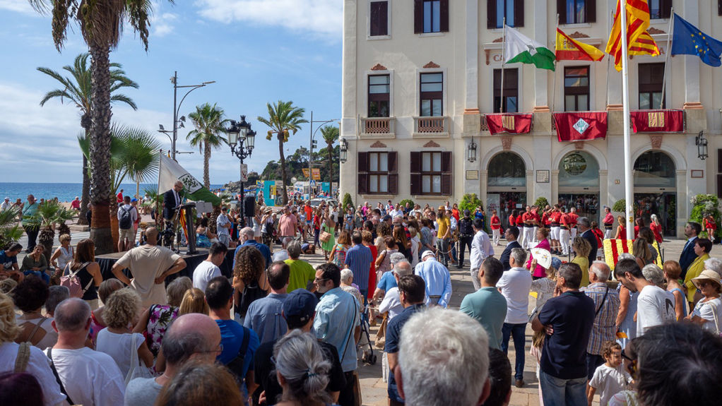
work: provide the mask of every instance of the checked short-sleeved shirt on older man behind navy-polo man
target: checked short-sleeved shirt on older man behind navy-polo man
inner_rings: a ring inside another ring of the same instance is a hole
[[[606,283],[604,282],[592,283],[580,290],[594,301],[594,312],[596,312],[591,335],[589,335],[587,353],[601,356],[601,345],[605,341],[617,339],[617,327],[614,322],[617,319],[617,312],[619,312],[619,292],[616,289],[609,289],[609,293],[604,299],[606,292]]]

